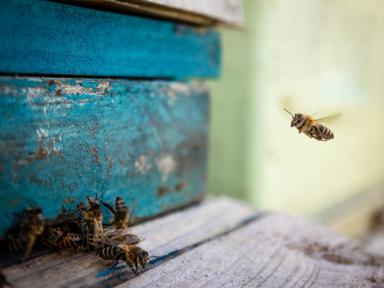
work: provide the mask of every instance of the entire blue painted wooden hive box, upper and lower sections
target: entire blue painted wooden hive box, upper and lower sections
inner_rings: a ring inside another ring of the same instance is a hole
[[[201,199],[209,89],[187,79],[218,76],[216,33],[1,2],[0,235],[31,202],[57,223],[87,195],[120,196],[137,222]]]

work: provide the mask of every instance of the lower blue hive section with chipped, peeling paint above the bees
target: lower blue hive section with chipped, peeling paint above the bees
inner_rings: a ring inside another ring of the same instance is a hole
[[[111,205],[136,203],[137,220],[201,197],[208,93],[173,81],[0,77],[0,235],[29,200],[63,220],[104,192]]]

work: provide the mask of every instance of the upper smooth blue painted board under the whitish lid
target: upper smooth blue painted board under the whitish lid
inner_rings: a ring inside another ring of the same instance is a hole
[[[0,0],[0,73],[217,77],[219,36],[42,0]]]

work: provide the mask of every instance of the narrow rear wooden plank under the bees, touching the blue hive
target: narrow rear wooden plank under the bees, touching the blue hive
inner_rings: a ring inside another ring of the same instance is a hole
[[[258,215],[252,208],[230,199],[206,200],[180,212],[134,226],[133,231],[147,237],[140,247],[150,255],[161,256],[155,261],[159,265]],[[94,252],[80,252],[78,255],[55,252],[2,268],[2,271],[14,287],[111,287],[134,277],[125,265],[118,265],[113,270],[108,270],[108,266],[108,262],[96,257]],[[146,269],[152,267],[147,266]]]

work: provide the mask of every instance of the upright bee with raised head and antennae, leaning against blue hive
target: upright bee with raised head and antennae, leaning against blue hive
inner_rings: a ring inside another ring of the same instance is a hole
[[[104,194],[104,192],[103,192]],[[101,196],[103,196],[101,194]],[[86,232],[86,243],[89,250],[93,250],[94,248],[102,247],[104,241],[104,230],[103,230],[103,213],[101,212],[99,199],[93,199],[89,196],[87,197],[88,206],[84,208],[80,208],[78,210],[86,210],[84,215],[84,221],[86,222],[83,228],[83,233],[86,227],[88,227]]]

